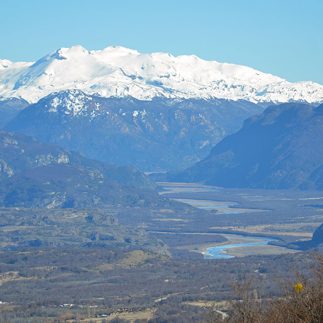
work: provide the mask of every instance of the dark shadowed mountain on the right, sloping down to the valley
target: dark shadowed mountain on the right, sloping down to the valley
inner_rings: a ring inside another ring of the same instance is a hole
[[[323,105],[284,103],[250,117],[184,171],[151,178],[221,187],[321,189]]]

